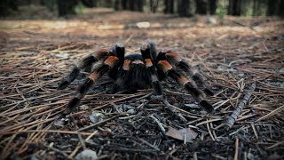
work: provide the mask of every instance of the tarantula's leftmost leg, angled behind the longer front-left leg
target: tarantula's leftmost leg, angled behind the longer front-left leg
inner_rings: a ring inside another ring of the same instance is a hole
[[[95,62],[101,60],[103,57],[106,57],[107,54],[108,50],[101,49],[99,50],[99,52],[96,52],[95,54],[90,54],[84,57],[82,60],[79,60],[79,62],[76,65],[73,65],[73,68],[71,68],[71,71],[67,74],[67,76],[62,78],[57,89],[58,90],[65,89],[69,84],[71,84],[75,80],[75,77],[79,75],[82,69],[84,69],[87,72],[90,72],[92,65]]]

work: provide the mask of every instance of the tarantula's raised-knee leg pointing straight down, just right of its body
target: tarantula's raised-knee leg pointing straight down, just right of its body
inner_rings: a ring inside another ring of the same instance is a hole
[[[146,41],[142,44],[140,51],[143,59],[146,61],[146,69],[150,74],[151,84],[155,95],[162,96],[162,85],[157,77],[156,68],[153,61],[156,59],[155,44],[152,41]]]

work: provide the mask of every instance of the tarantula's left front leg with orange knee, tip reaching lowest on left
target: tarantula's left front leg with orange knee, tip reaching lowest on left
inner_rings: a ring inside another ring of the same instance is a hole
[[[119,59],[116,56],[109,56],[102,65],[100,65],[98,68],[94,68],[90,76],[88,76],[84,83],[78,87],[75,97],[68,102],[67,113],[70,113],[74,108],[78,107],[80,100],[83,99],[85,94],[91,88],[91,85],[95,84],[100,76],[114,68],[118,62]]]

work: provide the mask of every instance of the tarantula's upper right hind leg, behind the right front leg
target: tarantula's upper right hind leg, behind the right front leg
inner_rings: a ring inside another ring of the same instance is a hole
[[[206,78],[201,74],[201,72],[185,62],[185,60],[177,53],[171,51],[159,52],[157,60],[167,60],[172,66],[181,68],[192,76],[193,81],[202,88],[203,92],[210,96],[214,95],[214,92],[211,91],[209,85],[206,83]]]

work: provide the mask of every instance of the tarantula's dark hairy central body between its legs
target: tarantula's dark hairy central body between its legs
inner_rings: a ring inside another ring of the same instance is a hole
[[[145,89],[151,85],[150,76],[147,73],[145,60],[141,54],[131,53],[125,56],[124,60],[130,60],[127,69],[119,68],[115,84],[123,90],[135,91]]]

